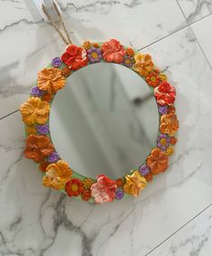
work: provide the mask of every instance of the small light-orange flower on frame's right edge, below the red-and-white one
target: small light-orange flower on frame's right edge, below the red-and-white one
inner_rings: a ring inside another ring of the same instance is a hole
[[[172,136],[174,133],[177,132],[178,128],[179,122],[176,114],[163,114],[161,116],[161,133],[167,133]]]

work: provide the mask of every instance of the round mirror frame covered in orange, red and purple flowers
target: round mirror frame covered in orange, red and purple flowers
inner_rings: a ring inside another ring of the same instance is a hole
[[[155,95],[160,116],[159,132],[155,148],[146,162],[128,175],[112,180],[105,175],[96,179],[86,178],[61,160],[49,133],[50,105],[57,90],[65,87],[68,78],[77,69],[99,62],[124,65],[146,80]],[[61,58],[52,59],[48,68],[38,74],[36,87],[32,87],[28,101],[20,107],[27,134],[24,155],[39,163],[44,173],[43,185],[66,193],[69,197],[102,204],[124,197],[137,197],[153,177],[168,168],[168,158],[177,142],[174,134],[179,128],[175,114],[176,92],[167,77],[155,67],[150,55],[125,47],[111,39],[105,42],[85,41],[83,46],[70,44]]]

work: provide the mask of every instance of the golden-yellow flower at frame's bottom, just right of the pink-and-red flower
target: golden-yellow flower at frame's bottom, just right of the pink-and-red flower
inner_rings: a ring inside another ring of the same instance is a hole
[[[142,177],[138,171],[126,176],[124,191],[129,195],[137,197],[140,190],[146,187],[146,178]]]

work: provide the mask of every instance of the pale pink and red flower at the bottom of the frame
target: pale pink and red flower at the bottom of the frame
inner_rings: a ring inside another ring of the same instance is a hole
[[[96,183],[91,187],[92,196],[97,204],[112,202],[115,198],[116,188],[116,182],[102,174],[98,176]]]

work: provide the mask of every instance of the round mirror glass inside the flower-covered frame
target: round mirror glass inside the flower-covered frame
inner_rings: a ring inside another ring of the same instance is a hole
[[[113,63],[78,69],[57,92],[50,111],[52,142],[81,175],[120,178],[155,147],[159,114],[143,78]]]

